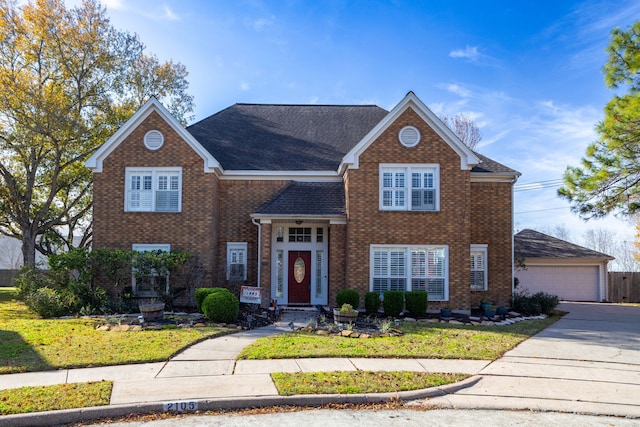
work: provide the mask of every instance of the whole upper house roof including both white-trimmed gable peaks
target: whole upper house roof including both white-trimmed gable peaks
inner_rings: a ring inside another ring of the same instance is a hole
[[[319,172],[324,179],[338,180],[344,168],[358,167],[359,155],[407,108],[413,108],[460,155],[461,167],[480,180],[519,176],[471,151],[413,92],[391,112],[375,105],[234,104],[186,129],[151,98],[85,164],[101,172],[104,159],[155,111],[203,159],[205,172],[228,172],[229,177],[281,177],[286,172],[303,180],[317,179]]]

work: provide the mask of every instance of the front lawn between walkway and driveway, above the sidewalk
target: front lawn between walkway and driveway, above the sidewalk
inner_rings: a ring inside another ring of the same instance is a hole
[[[501,327],[403,323],[403,336],[350,339],[296,332],[261,338],[239,359],[380,357],[495,360],[559,317]]]

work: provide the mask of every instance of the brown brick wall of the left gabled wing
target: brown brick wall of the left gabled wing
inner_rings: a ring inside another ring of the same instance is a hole
[[[150,151],[146,132],[157,129],[163,146]],[[182,167],[182,211],[125,212],[125,168]],[[131,249],[133,244],[169,243],[172,249],[199,254],[208,272],[216,268],[218,179],[204,173],[204,162],[157,114],[152,113],[105,160],[94,176],[95,248]],[[209,281],[211,278],[209,277]]]

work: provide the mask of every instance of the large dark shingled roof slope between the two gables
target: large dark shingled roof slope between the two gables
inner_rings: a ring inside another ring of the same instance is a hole
[[[235,104],[187,130],[227,170],[335,171],[386,115],[375,105]]]

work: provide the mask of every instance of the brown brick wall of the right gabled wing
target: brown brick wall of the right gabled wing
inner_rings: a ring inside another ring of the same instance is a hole
[[[404,126],[414,126],[420,131],[421,141],[416,147],[407,148],[398,141],[398,133]],[[440,211],[380,211],[380,163],[439,164]],[[484,243],[477,241],[482,237],[491,245],[490,283],[495,283],[493,286],[501,295],[505,292],[510,275],[505,283],[504,264],[511,259],[510,252],[507,254],[511,242],[509,184],[495,187],[473,184],[474,190],[470,191],[470,172],[460,169],[459,156],[413,110],[404,112],[365,150],[360,156],[359,169],[350,170],[345,182],[348,207],[346,287],[358,290],[361,295],[369,290],[371,244],[448,245],[449,300],[454,308],[469,309],[475,305],[469,286],[470,244]],[[491,192],[487,198],[484,197],[485,190]],[[482,202],[478,202],[480,200]],[[508,216],[502,212],[492,216],[496,206],[504,206]],[[490,218],[474,225],[474,239],[471,212],[474,212],[474,218]],[[508,230],[507,234],[505,230]],[[494,244],[498,245],[495,250]],[[508,256],[503,259],[505,255]]]

